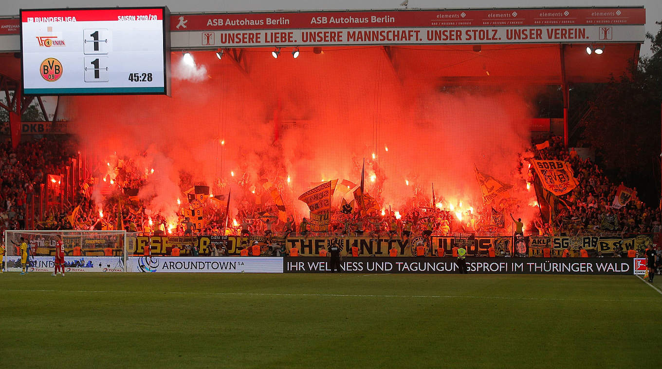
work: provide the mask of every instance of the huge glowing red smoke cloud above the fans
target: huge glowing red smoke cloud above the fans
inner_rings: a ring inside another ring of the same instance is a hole
[[[282,185],[289,213],[307,216],[297,197],[322,180],[358,183],[363,158],[367,191],[393,210],[416,193],[431,197],[433,182],[445,207],[479,206],[475,167],[515,185],[523,207],[534,199],[517,172],[531,117],[517,90],[442,88],[434,74],[408,73],[415,50],[395,64],[380,47],[302,49],[298,59],[270,51],[244,50],[245,63],[194,52],[189,70],[173,53],[171,97],[70,97],[68,116],[101,160],[117,152],[154,168],[140,196],[164,213],[177,209],[186,172],[214,194],[232,187],[233,201],[242,178],[258,192],[265,178]]]

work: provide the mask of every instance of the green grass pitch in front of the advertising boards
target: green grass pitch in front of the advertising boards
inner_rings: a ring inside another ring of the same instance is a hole
[[[1,368],[662,362],[662,294],[634,276],[3,273],[0,314]]]

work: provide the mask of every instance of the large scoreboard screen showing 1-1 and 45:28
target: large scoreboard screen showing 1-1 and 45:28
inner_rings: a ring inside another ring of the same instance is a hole
[[[23,93],[169,94],[167,7],[21,9]]]

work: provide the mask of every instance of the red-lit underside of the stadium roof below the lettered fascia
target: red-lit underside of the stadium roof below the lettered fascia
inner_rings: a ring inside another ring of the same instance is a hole
[[[471,45],[383,48],[385,57],[391,59],[402,79],[436,79],[440,85],[561,84],[563,53],[565,79],[569,84],[577,84],[606,83],[612,76],[627,74],[630,62],[639,57],[639,45],[608,44],[602,55],[587,54],[588,44],[483,45],[480,51],[474,51]],[[324,50],[351,48],[328,47]],[[252,52],[258,50],[267,53],[272,49],[251,49]],[[301,58],[297,62],[306,61]],[[20,59],[14,53],[0,53],[0,74],[20,81]]]

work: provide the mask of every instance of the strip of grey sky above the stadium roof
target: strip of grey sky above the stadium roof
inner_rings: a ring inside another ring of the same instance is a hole
[[[154,6],[167,5],[173,13],[179,12],[219,12],[219,11],[273,11],[273,10],[314,10],[314,9],[397,9],[402,8],[402,0],[9,0],[0,5],[0,15],[17,15],[19,9],[94,7],[94,6]],[[655,21],[662,20],[660,0],[506,0],[498,7],[592,7],[592,6],[639,6],[646,9],[646,31],[655,34],[659,26]],[[493,1],[465,0],[461,4],[449,0],[410,0],[409,8],[487,8],[494,7]],[[650,43],[641,48],[641,53],[650,53]]]

